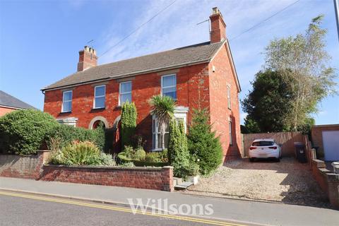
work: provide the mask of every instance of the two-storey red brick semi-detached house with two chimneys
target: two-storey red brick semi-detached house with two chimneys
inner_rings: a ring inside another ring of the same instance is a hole
[[[194,108],[209,109],[225,157],[239,156],[241,91],[226,25],[218,8],[210,16],[210,41],[97,66],[95,49],[79,52],[78,71],[43,88],[44,112],[61,123],[93,129],[102,121],[119,131],[121,105],[138,110],[137,131],[146,150],[160,150],[157,119],[148,100],[169,95],[177,100],[175,117],[189,125]],[[119,142],[117,132],[116,141]]]

